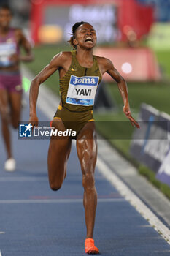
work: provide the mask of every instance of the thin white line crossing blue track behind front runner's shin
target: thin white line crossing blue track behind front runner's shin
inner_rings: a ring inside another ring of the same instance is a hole
[[[124,198],[98,198],[98,203],[124,202]],[[14,199],[0,200],[0,204],[8,203],[82,203],[82,199]]]

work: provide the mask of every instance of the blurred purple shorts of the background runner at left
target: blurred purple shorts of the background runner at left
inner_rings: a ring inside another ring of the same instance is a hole
[[[22,92],[22,79],[20,72],[1,72],[0,89],[8,92]]]

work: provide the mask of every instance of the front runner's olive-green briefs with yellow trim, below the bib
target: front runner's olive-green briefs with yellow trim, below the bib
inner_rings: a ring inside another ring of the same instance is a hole
[[[61,107],[60,105],[58,106],[58,110],[56,111],[54,118],[61,119],[66,129],[72,129],[72,131],[75,131],[75,139],[77,138],[77,135],[82,127],[84,127],[88,121],[94,121],[93,110],[88,110],[85,112],[72,112]]]

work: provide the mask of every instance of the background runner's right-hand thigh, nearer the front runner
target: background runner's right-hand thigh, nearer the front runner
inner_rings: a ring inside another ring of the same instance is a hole
[[[20,110],[21,110],[21,99],[22,93],[10,92],[9,93],[9,104],[11,111],[12,124],[16,128],[18,127],[18,122],[20,121]]]

